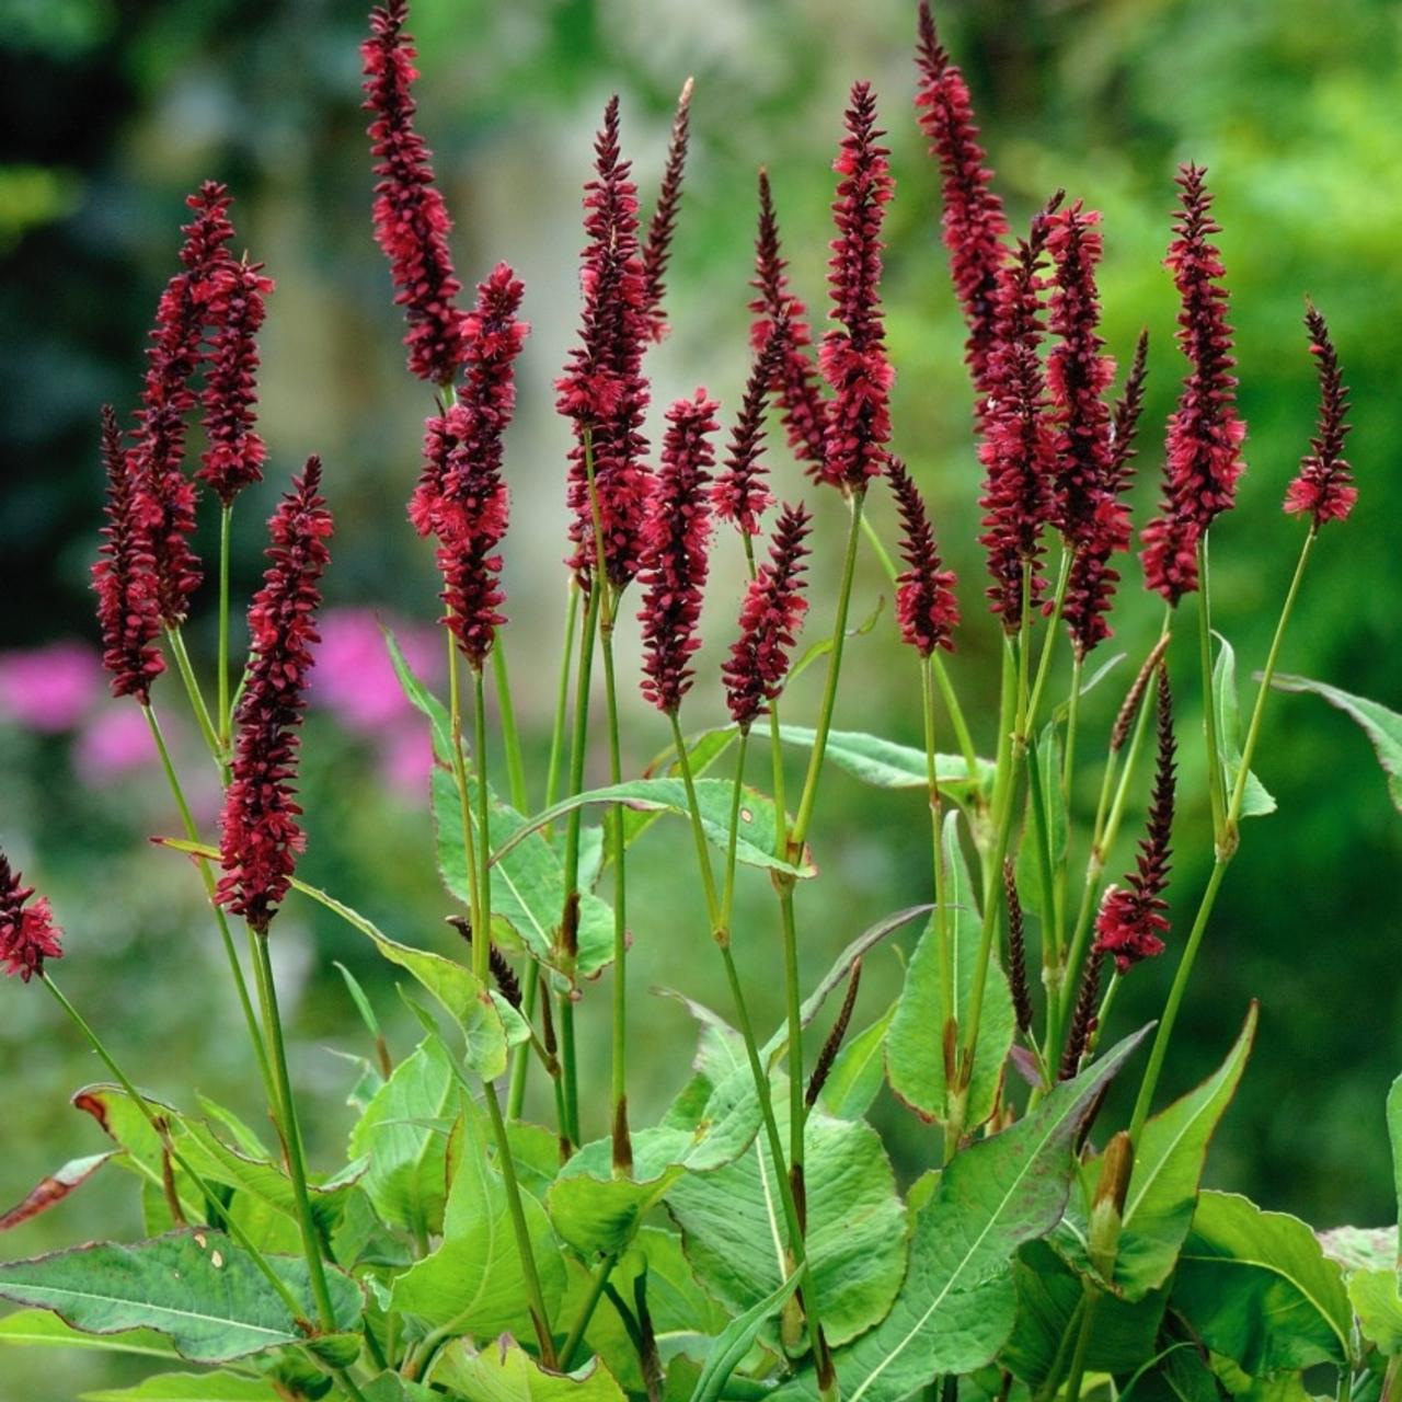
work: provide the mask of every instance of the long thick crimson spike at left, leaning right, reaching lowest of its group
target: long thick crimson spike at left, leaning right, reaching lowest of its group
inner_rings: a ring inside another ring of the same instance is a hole
[[[306,845],[297,823],[297,726],[332,531],[320,486],[321,460],[310,457],[268,523],[272,565],[248,608],[252,660],[234,716],[238,735],[220,819],[224,875],[217,899],[259,935],[287,894]]]

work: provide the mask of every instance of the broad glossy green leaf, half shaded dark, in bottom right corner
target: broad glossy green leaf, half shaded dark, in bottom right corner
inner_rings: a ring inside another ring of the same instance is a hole
[[[1339,1266],[1298,1217],[1235,1193],[1199,1197],[1172,1305],[1253,1377],[1349,1360],[1353,1312]]]

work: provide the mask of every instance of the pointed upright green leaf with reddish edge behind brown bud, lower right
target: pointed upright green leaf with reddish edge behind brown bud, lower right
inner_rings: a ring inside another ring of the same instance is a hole
[[[1115,1280],[1110,1283],[1126,1300],[1143,1300],[1173,1273],[1179,1248],[1193,1221],[1207,1145],[1237,1094],[1255,1036],[1253,1002],[1241,1035],[1217,1071],[1144,1126],[1124,1197]],[[1099,1169],[1099,1159],[1088,1168],[1087,1196],[1094,1196]],[[1078,1270],[1091,1273],[1084,1202],[1077,1202],[1067,1213],[1064,1228],[1059,1241],[1066,1255]]]

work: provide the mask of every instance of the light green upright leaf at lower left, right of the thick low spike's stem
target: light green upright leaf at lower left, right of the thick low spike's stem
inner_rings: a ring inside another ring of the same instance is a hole
[[[426,1037],[374,1094],[350,1131],[350,1154],[367,1154],[363,1186],[380,1216],[414,1235],[436,1232],[447,1196],[447,1138],[458,1077],[447,1049]]]

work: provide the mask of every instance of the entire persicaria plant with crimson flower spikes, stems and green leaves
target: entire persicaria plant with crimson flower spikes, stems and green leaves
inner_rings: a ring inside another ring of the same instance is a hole
[[[963,322],[949,349],[970,374],[979,484],[941,478],[894,412],[880,289],[896,184],[876,90],[855,83],[834,116],[827,324],[815,328],[805,301],[823,269],[785,258],[761,170],[754,266],[736,266],[732,285],[750,320],[749,345],[733,348],[743,390],[670,405],[653,405],[646,355],[673,322],[688,147],[718,118],[686,81],[660,185],[639,189],[628,114],[608,100],[583,181],[578,334],[554,386],[568,522],[555,562],[531,562],[558,568],[568,600],[550,760],[531,773],[508,653],[523,646],[538,670],[541,648],[516,637],[503,586],[512,484],[540,471],[517,465],[508,440],[531,292],[508,262],[472,293],[454,272],[447,203],[415,126],[408,22],[405,0],[388,0],[362,50],[370,223],[408,369],[425,381],[422,465],[402,492],[440,579],[439,603],[423,607],[443,628],[446,697],[388,646],[433,743],[425,869],[437,861],[464,938],[381,931],[297,875],[301,719],[341,477],[318,457],[293,475],[259,433],[273,285],[231,251],[231,198],[207,182],[158,299],[130,432],[111,408],[95,415],[107,516],[94,586],[112,690],[140,707],[179,819],[157,843],[203,882],[269,1130],[178,1087],[158,1099],[137,1088],[55,981],[60,955],[83,958],[81,907],[64,913],[62,941],[49,901],[0,854],[0,967],[48,990],[101,1059],[111,1080],[77,1103],[140,1178],[149,1227],[143,1241],[0,1266],[0,1295],[28,1311],[0,1338],[122,1347],[140,1329],[140,1352],[168,1356],[171,1371],[205,1370],[133,1398],[1304,1396],[1304,1370],[1328,1366],[1340,1399],[1388,1402],[1402,1371],[1391,1248],[1381,1263],[1342,1258],[1291,1218],[1200,1189],[1255,1008],[1209,1081],[1166,1105],[1159,1095],[1203,942],[1248,938],[1214,930],[1213,910],[1242,822],[1274,806],[1253,773],[1273,683],[1368,716],[1382,751],[1402,733],[1382,707],[1277,670],[1319,527],[1346,522],[1357,499],[1323,315],[1308,307],[1301,346],[1318,369],[1316,428],[1308,436],[1298,415],[1308,446],[1281,482],[1304,543],[1244,723],[1235,655],[1213,627],[1207,544],[1237,502],[1245,426],[1202,167],[1180,170],[1166,234],[1165,314],[1176,306],[1183,369],[1164,370],[1182,386],[1158,443],[1144,426],[1148,338],[1113,346],[1102,320],[1112,222],[1092,191],[1043,192],[1035,210],[1000,193],[970,87],[920,6],[917,121],[941,189],[921,217],[941,229]],[[1232,172],[1216,178],[1227,188]],[[931,275],[942,261],[931,237]],[[191,464],[195,415],[205,447]],[[1140,594],[1120,559],[1136,536],[1136,463],[1162,467],[1157,515],[1138,531],[1162,617],[1148,639],[1122,614]],[[230,517],[262,477],[283,492],[240,656]],[[979,499],[976,543],[941,520],[960,492]],[[206,604],[191,544],[202,496],[222,527],[213,659],[184,638]],[[979,547],[986,608],[967,587],[960,606],[951,565],[967,580]],[[852,628],[868,555],[894,618]],[[1258,561],[1262,578],[1270,568]],[[1230,618],[1232,601],[1217,608]],[[1116,625],[1131,662],[1087,679]],[[639,645],[637,669],[620,637]],[[973,638],[998,656],[995,695],[960,674]],[[1204,716],[1200,757],[1175,723],[1171,665],[1179,714]],[[816,704],[789,695],[809,667]],[[923,735],[859,728],[878,669],[911,697],[918,672]],[[632,687],[648,705],[628,704]],[[186,802],[157,719],[168,701],[191,708],[219,774],[217,831]],[[1182,791],[1180,751],[1195,761]],[[593,788],[592,765],[607,773]],[[833,879],[819,798],[834,767],[892,803],[917,791],[928,866],[901,873],[890,914],[851,931],[813,984],[805,956],[834,934],[809,890]],[[1175,813],[1193,805],[1213,822],[1202,890],[1169,883],[1172,861],[1193,869],[1173,854]],[[669,841],[673,859],[695,862],[700,901],[688,907],[672,880],[667,908],[649,910],[629,892],[634,850]],[[751,882],[761,906],[736,899]],[[754,928],[770,900],[774,944]],[[304,901],[416,986],[423,1023],[416,1046],[391,1047],[350,981],[367,1043],[349,1161],[331,1171],[307,1161],[272,959],[278,913]],[[899,997],[869,1007],[862,970],[910,927]],[[628,963],[651,939],[667,941],[679,979],[697,951],[721,960],[726,1007],[687,1002],[694,1057],[637,1046]],[[777,1028],[736,948],[749,967],[751,953],[768,960]],[[1162,997],[1137,1030],[1116,1004],[1131,974]],[[607,1087],[579,1054],[596,1022],[608,1030]],[[676,1073],[653,1124],[629,1108],[639,1054]],[[168,1080],[170,1060],[144,1074]],[[1137,1081],[1124,1123],[1108,1098],[1115,1078]],[[904,1195],[866,1122],[883,1081],[917,1117],[931,1171]],[[60,1171],[3,1225],[91,1175]],[[1332,1388],[1329,1374],[1311,1371],[1308,1388]]]

